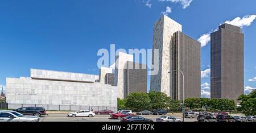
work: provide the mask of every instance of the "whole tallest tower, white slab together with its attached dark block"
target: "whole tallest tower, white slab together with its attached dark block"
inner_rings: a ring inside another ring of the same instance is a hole
[[[153,49],[159,49],[159,73],[151,76],[150,89],[163,92],[172,99],[183,99],[182,75],[173,72],[181,70],[185,98],[199,98],[201,45],[181,31],[182,26],[166,15],[155,23]]]

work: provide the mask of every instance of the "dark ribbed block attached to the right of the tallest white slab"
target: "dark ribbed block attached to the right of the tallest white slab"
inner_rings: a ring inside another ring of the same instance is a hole
[[[180,31],[174,33],[172,39],[172,70],[181,70],[184,73],[185,98],[200,98],[200,49],[199,41],[183,34]],[[183,79],[180,72],[170,73],[172,76],[173,99],[183,99]]]

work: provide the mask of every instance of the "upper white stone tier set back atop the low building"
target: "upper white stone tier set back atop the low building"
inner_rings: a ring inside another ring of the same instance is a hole
[[[30,69],[31,78],[43,78],[67,81],[95,82],[99,76],[82,73],[58,72],[53,70]]]

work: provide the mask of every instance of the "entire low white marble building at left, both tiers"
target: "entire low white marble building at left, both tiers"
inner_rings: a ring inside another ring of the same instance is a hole
[[[96,80],[98,76],[91,74],[31,69],[31,77],[6,78],[7,102],[117,107],[117,87]]]

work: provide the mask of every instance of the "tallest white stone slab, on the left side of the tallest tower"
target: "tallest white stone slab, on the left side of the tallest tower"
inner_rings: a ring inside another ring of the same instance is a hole
[[[150,89],[163,92],[168,96],[171,96],[168,73],[171,66],[171,39],[176,31],[182,31],[182,26],[166,15],[163,15],[154,25],[153,49],[159,49],[159,73],[151,76]],[[152,56],[152,63],[154,63],[154,50]]]

